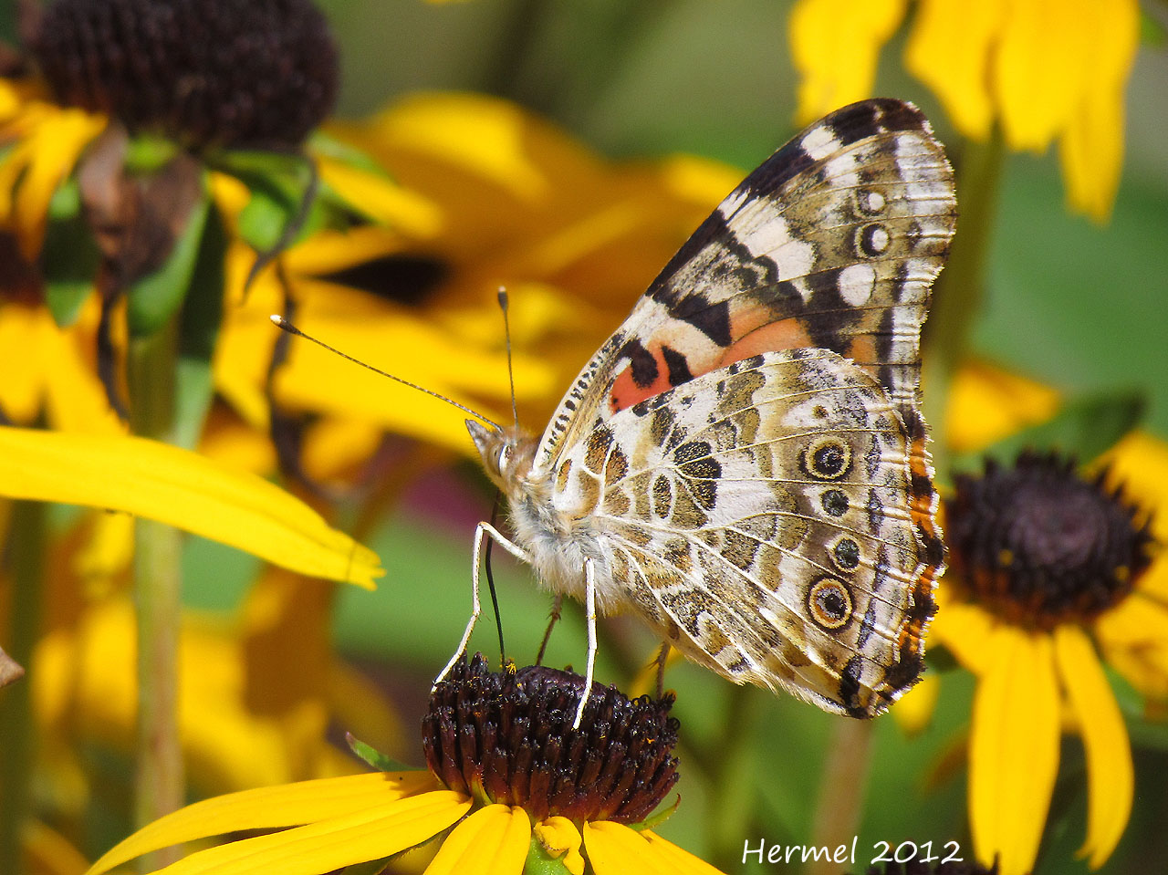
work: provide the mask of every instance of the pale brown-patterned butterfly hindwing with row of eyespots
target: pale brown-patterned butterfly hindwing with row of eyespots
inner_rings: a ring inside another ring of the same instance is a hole
[[[609,595],[695,661],[871,716],[920,669],[899,645],[918,570],[906,453],[858,367],[766,353],[597,423],[554,506],[602,535]]]

